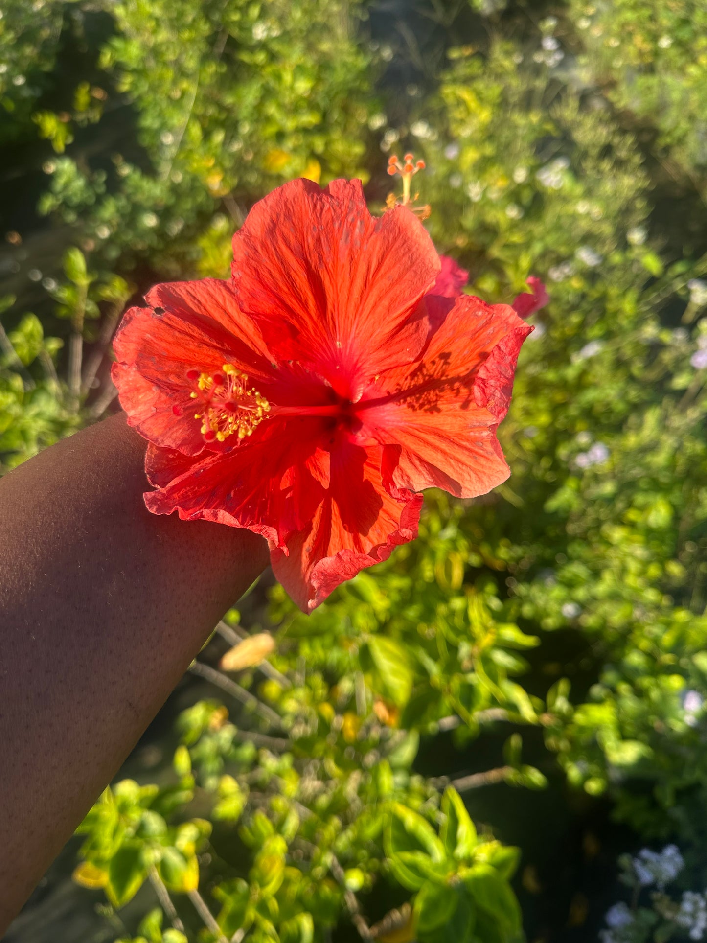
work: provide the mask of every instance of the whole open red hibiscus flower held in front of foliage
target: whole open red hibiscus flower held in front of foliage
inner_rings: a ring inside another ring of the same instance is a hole
[[[417,536],[424,488],[483,494],[531,328],[511,306],[428,293],[439,256],[359,181],[296,180],[251,210],[232,278],[158,285],[115,339],[113,378],[150,442],[155,514],[247,527],[305,611]]]

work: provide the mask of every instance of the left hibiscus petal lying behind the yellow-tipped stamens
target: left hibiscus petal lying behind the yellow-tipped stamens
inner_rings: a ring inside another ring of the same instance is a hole
[[[271,380],[271,356],[255,323],[238,310],[229,282],[157,285],[145,300],[149,307],[130,308],[118,329],[113,382],[141,436],[198,455],[204,438],[187,372],[217,372],[228,362],[262,385]]]

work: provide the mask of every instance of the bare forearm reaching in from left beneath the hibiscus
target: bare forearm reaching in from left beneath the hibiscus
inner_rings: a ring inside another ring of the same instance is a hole
[[[144,453],[119,415],[0,481],[0,935],[268,563],[150,514]]]

